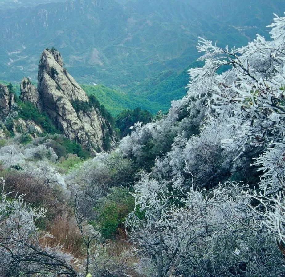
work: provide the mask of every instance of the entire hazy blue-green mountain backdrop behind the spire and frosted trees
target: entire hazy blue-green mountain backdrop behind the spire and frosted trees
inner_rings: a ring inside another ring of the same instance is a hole
[[[42,49],[54,46],[77,81],[112,88],[106,98],[103,86],[89,87],[112,114],[166,111],[185,95],[198,36],[241,46],[283,10],[281,0],[2,0],[0,79],[35,81]]]

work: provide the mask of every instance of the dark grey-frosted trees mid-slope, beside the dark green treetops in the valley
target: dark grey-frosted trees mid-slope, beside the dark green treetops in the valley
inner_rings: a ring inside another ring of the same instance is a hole
[[[203,101],[189,102],[187,97],[173,101],[167,116],[137,127],[135,132],[121,140],[119,149],[149,171],[156,157],[164,157],[171,150],[177,135],[188,139],[197,134],[203,117]]]

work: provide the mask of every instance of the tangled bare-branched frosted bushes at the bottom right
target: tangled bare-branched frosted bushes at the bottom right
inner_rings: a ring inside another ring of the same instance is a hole
[[[135,185],[136,209],[126,226],[151,276],[280,274],[274,238],[249,215],[238,184],[187,191],[183,180],[158,182],[147,174]]]

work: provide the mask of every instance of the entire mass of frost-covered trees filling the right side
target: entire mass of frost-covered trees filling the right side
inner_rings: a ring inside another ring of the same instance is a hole
[[[153,274],[188,276],[197,269],[198,275],[268,275],[270,266],[284,271],[273,257],[278,247],[285,254],[285,17],[275,15],[268,27],[271,41],[258,35],[238,49],[200,38],[205,65],[189,70],[187,96],[174,101],[166,117],[136,128],[120,143],[124,155],[137,161],[153,149],[149,138],[156,147],[164,143],[152,168],[145,167],[152,178],[143,175],[135,185],[136,210],[127,219]],[[227,239],[219,240],[219,248],[215,239],[221,236]],[[271,258],[258,260],[254,245]]]

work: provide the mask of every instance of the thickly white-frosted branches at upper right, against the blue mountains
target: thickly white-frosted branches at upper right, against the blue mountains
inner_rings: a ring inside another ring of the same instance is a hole
[[[220,129],[222,146],[227,151],[245,150],[246,145],[264,147],[256,165],[264,172],[261,187],[277,191],[283,186],[284,168],[284,84],[285,17],[276,15],[270,32],[272,41],[261,36],[248,46],[229,50],[201,40],[200,58],[205,66],[191,69],[189,91],[209,95],[209,111],[203,132]],[[223,65],[232,69],[221,75],[213,70]],[[201,86],[206,82],[206,86]]]

